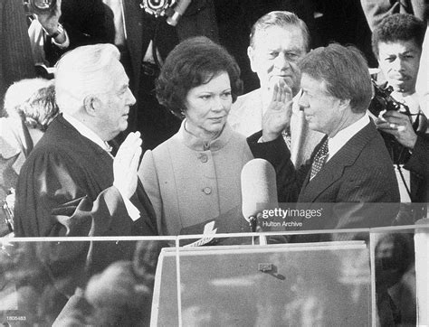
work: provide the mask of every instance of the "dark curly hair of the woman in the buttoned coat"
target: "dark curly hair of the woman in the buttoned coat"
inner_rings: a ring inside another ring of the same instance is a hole
[[[228,73],[234,102],[243,89],[234,57],[205,36],[187,39],[168,54],[156,81],[157,99],[177,117],[183,117],[189,90],[208,83],[222,72]]]

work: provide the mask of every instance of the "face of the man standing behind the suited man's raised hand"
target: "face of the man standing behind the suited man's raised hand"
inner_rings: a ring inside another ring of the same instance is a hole
[[[270,26],[254,35],[253,47],[247,49],[251,67],[262,89],[271,89],[283,79],[296,95],[300,89],[298,61],[305,55],[305,42],[299,27]]]

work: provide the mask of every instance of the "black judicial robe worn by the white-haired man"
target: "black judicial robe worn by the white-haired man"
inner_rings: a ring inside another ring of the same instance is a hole
[[[113,158],[60,115],[34,147],[16,188],[16,237],[157,235],[155,212],[141,182],[130,201],[140,218],[129,218],[113,184]],[[42,239],[41,239],[42,240]],[[135,243],[43,242],[38,258],[55,284],[72,294],[89,276],[119,259],[130,259]]]

